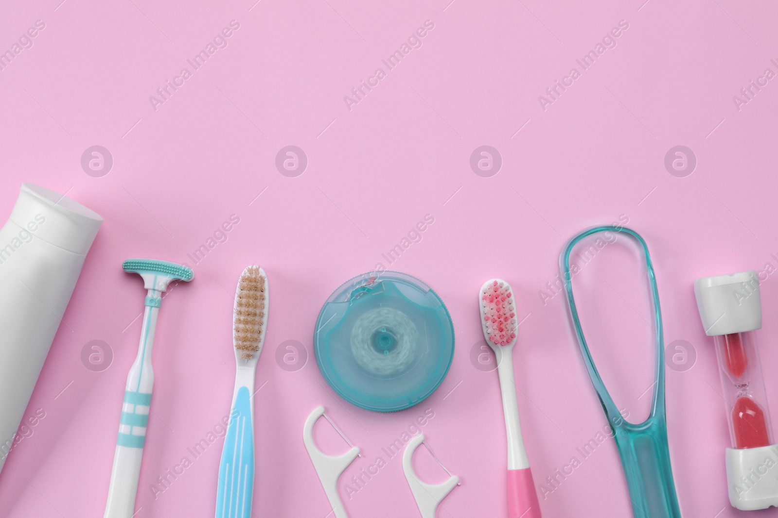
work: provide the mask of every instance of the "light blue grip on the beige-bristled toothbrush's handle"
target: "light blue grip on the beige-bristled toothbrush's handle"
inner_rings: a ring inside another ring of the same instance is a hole
[[[219,464],[216,518],[249,518],[254,493],[254,419],[248,388],[240,387],[230,412]]]

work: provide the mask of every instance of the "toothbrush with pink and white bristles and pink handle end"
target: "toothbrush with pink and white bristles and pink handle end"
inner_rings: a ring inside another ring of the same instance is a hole
[[[508,516],[541,518],[527,451],[521,438],[516,385],[513,381],[513,346],[517,341],[516,304],[510,284],[487,280],[478,297],[484,338],[497,357],[499,387],[503,392],[505,429],[508,436]]]

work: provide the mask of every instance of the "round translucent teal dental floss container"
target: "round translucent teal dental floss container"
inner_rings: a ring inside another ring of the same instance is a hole
[[[346,401],[397,412],[443,382],[454,359],[454,325],[422,281],[399,272],[363,273],[324,303],[314,353],[321,375]]]

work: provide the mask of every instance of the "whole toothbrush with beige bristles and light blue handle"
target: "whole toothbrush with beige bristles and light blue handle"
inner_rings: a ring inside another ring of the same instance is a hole
[[[251,516],[254,492],[254,377],[268,326],[265,270],[248,266],[235,292],[233,348],[235,391],[224,438],[216,494],[216,518]]]

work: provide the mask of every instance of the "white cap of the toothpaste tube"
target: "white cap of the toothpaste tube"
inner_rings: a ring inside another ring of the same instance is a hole
[[[22,184],[9,220],[45,242],[82,255],[89,252],[103,223],[94,210],[34,183]]]

